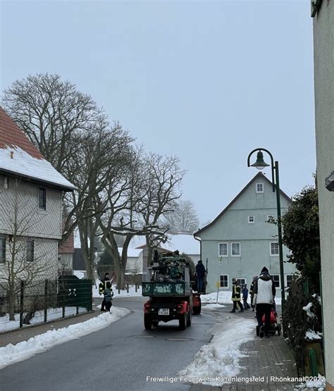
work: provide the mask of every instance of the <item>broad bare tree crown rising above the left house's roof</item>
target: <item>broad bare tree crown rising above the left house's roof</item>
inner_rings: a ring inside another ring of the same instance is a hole
[[[4,91],[2,104],[42,155],[63,173],[76,136],[104,116],[92,97],[60,75],[29,75]]]

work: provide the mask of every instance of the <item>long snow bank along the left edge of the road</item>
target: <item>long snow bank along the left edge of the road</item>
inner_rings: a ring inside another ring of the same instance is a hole
[[[111,323],[130,314],[125,308],[113,307],[112,314],[105,313],[82,323],[69,325],[58,330],[49,330],[47,333],[36,335],[30,340],[19,342],[16,345],[8,344],[0,347],[0,369],[35,356],[37,353],[45,352],[55,345],[75,340],[94,331],[106,328]]]

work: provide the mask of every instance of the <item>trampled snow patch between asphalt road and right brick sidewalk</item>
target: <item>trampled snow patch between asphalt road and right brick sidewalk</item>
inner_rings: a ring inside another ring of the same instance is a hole
[[[229,319],[224,325],[214,326],[209,345],[204,345],[194,356],[192,363],[180,371],[187,378],[216,378],[216,376],[237,376],[241,367],[239,361],[245,354],[239,350],[243,343],[254,340],[256,322],[245,318]],[[205,384],[221,385],[208,382]]]

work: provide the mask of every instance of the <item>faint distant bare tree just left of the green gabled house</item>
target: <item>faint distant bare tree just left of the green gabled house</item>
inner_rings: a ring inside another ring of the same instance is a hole
[[[199,228],[199,218],[194,204],[190,200],[175,202],[173,212],[166,216],[171,232],[192,233]]]

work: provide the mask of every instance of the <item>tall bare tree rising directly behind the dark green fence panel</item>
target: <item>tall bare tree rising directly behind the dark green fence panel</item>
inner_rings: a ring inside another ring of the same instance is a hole
[[[116,123],[99,123],[94,132],[80,138],[80,151],[69,159],[68,178],[75,185],[75,192],[67,197],[68,205],[78,223],[82,255],[85,259],[87,278],[93,278],[95,238],[99,221],[96,216],[104,214],[101,205],[95,202],[111,180],[111,168],[126,164],[128,145],[132,141],[128,132]]]

